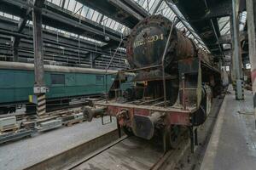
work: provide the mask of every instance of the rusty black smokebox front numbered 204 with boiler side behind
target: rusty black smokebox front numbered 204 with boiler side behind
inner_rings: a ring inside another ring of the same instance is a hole
[[[132,68],[161,65],[172,22],[161,15],[149,16],[135,26],[127,41],[127,59]],[[195,56],[195,45],[183,33],[172,30],[172,37],[166,50],[165,63],[173,59]]]

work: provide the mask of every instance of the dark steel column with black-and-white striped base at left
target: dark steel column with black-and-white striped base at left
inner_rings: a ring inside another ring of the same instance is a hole
[[[42,11],[44,0],[34,0],[32,8],[33,21],[33,42],[34,42],[34,65],[35,65],[35,84],[34,94],[38,96],[37,114],[44,116],[46,112],[45,102],[45,82],[44,82],[44,53],[43,53],[43,32],[42,32]]]

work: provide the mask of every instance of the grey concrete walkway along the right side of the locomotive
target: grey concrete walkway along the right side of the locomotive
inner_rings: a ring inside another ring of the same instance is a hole
[[[253,93],[245,91],[238,101],[235,92],[224,98],[218,120],[201,162],[201,170],[256,169],[256,129],[253,116]]]

